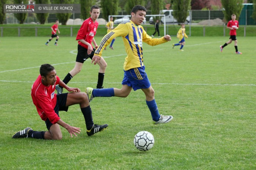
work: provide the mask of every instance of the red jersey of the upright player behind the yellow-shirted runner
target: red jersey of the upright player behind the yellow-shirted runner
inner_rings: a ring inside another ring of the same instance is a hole
[[[85,40],[86,42],[91,44],[91,42],[93,41],[93,37],[96,34],[96,30],[97,30],[98,26],[99,26],[99,23],[97,21],[95,21],[95,23],[93,23],[93,20],[91,19],[91,17],[86,19],[83,22],[82,26],[80,27],[79,31],[77,32],[76,40]],[[78,41],[78,43],[79,43],[79,45],[88,49],[88,46],[85,45],[84,43],[82,43],[80,41]]]

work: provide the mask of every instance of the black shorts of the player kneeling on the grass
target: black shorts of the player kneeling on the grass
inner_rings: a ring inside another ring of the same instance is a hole
[[[66,107],[67,103],[67,97],[68,93],[63,93],[63,94],[57,94],[57,102],[54,108],[55,113],[59,116],[59,111],[68,111],[68,107]],[[49,119],[46,119],[46,127],[48,130],[50,130],[50,127],[53,125]]]

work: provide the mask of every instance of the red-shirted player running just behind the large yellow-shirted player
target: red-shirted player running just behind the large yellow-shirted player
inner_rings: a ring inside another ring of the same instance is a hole
[[[66,77],[63,79],[63,82],[65,84],[68,84],[68,82],[77,75],[81,70],[83,66],[83,62],[85,62],[86,59],[93,58],[94,51],[96,48],[98,48],[97,43],[94,40],[94,36],[96,35],[96,30],[98,28],[99,23],[96,21],[96,19],[99,17],[100,10],[98,6],[92,6],[90,11],[91,17],[86,19],[81,28],[79,29],[77,33],[78,40],[78,48],[77,48],[77,58],[75,60],[75,67],[73,70],[71,70]],[[95,48],[91,45],[91,42],[93,42]],[[98,74],[98,82],[96,88],[103,88],[103,80],[104,80],[104,74],[107,67],[107,63],[102,58],[101,62],[98,63],[100,66],[99,74]],[[56,90],[58,94],[61,94],[63,91],[63,87],[60,85],[56,86]]]

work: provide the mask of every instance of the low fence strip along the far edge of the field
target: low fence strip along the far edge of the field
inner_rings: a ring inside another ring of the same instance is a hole
[[[143,25],[145,31],[150,32],[154,30],[152,25]],[[179,25],[166,25],[166,34],[176,36],[179,30]],[[47,31],[46,31],[47,29]],[[61,36],[72,37],[76,36],[80,26],[62,26]],[[99,26],[97,29],[97,36],[104,36],[106,34],[105,26]],[[163,32],[163,27],[160,27],[160,32]],[[18,36],[18,37],[46,37],[50,36],[50,27],[0,27],[1,37]],[[237,30],[238,36],[250,37],[256,36],[256,26],[240,26]],[[190,36],[229,36],[229,30],[226,26],[192,26],[187,29],[187,35]]]

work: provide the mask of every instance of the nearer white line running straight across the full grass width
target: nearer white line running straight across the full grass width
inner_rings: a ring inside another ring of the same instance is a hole
[[[0,80],[0,82],[18,82],[18,83],[34,83],[32,81],[9,81],[9,80]],[[75,84],[84,84],[85,82],[69,82]],[[89,82],[87,82],[89,83]],[[97,82],[90,82],[90,83],[97,83]],[[121,84],[121,82],[107,82],[105,84]],[[158,84],[158,85],[198,85],[198,86],[256,86],[255,84],[206,84],[206,83],[151,83],[151,84]]]

